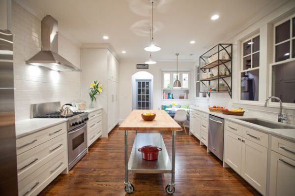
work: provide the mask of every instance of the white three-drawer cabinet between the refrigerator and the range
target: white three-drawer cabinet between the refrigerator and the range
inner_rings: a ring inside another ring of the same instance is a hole
[[[68,167],[66,123],[16,140],[19,196],[36,196]]]

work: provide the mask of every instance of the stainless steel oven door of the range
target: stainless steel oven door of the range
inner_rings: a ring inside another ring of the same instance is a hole
[[[69,169],[87,153],[86,124],[68,132],[68,162]]]

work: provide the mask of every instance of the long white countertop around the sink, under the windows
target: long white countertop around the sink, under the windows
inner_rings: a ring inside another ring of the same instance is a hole
[[[259,131],[270,133],[272,135],[276,135],[276,136],[279,136],[281,138],[288,139],[288,140],[291,140],[291,141],[295,142],[295,129],[270,129],[270,128],[267,128],[267,127],[263,127],[263,126],[260,126],[260,125],[256,125],[256,124],[253,124],[253,123],[249,123],[249,122],[246,122],[246,121],[239,120],[239,119],[242,119],[242,118],[260,118],[260,119],[264,119],[261,116],[249,115],[249,114],[247,114],[247,112],[245,112],[244,116],[226,115],[226,114],[222,114],[222,113],[218,113],[218,112],[210,112],[209,109],[206,108],[206,107],[196,107],[196,106],[190,107],[190,109],[205,112],[207,114],[211,114],[211,115],[223,118],[225,120],[229,120],[229,121],[232,121],[234,123],[238,123],[240,125],[244,125],[244,126],[247,126],[249,128],[252,128],[252,129],[256,129],[256,130],[259,130]],[[264,120],[269,121],[267,119],[264,119]],[[292,124],[284,123],[284,125],[289,125],[289,126],[294,126],[295,127],[295,125],[292,125]]]

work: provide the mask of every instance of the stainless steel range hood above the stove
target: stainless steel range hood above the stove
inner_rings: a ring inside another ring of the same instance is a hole
[[[41,51],[26,64],[45,66],[57,71],[82,71],[58,54],[58,21],[51,15],[41,21]]]

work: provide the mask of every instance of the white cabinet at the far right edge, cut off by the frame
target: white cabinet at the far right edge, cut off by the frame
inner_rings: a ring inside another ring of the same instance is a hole
[[[272,137],[270,196],[295,196],[295,143]]]

